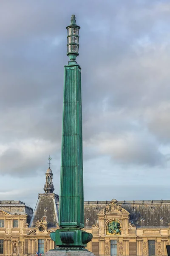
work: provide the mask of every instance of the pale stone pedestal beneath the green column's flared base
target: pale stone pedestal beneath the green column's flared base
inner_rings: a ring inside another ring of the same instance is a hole
[[[44,253],[45,256],[95,256],[92,252],[86,249],[79,249],[76,250],[49,250],[48,252]]]

